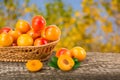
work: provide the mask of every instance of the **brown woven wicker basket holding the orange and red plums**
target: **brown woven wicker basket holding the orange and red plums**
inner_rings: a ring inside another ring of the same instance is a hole
[[[0,61],[26,62],[28,60],[47,60],[59,40],[42,46],[0,47]]]

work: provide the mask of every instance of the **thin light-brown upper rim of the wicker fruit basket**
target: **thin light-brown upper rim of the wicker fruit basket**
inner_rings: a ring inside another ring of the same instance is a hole
[[[52,45],[52,44],[58,43],[59,41],[60,41],[60,38],[59,38],[58,40],[56,40],[56,41],[52,41],[52,42],[50,42],[50,43],[47,43],[47,44],[45,44],[45,45],[40,45],[40,46],[8,46],[8,47],[1,47],[1,46],[0,46],[0,49],[1,49],[1,48],[45,47],[45,46],[48,46],[48,45]]]

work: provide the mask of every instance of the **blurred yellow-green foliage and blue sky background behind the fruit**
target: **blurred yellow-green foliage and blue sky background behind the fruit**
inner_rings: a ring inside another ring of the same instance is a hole
[[[34,15],[61,29],[56,50],[120,52],[120,0],[0,0],[0,27],[14,28],[18,19],[31,23]]]

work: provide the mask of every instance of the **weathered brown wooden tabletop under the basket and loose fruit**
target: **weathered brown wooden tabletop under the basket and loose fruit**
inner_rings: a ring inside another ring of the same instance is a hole
[[[120,54],[88,52],[80,68],[63,72],[48,67],[31,73],[25,63],[0,62],[0,80],[120,80]]]

